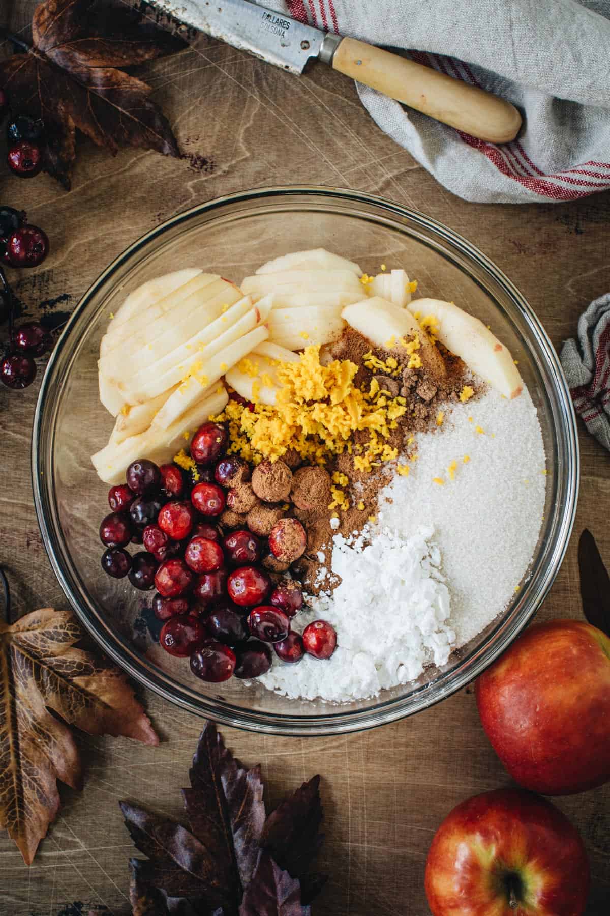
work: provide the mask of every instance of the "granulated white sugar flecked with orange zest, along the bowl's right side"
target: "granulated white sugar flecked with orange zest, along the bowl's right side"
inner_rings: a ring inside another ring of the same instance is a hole
[[[379,519],[405,536],[433,527],[459,647],[508,605],[528,570],[544,513],[545,455],[527,389],[512,400],[489,390],[444,416],[439,431],[415,437],[418,458],[380,493]]]

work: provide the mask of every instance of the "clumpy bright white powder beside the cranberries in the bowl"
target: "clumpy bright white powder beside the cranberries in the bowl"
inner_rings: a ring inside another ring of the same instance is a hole
[[[455,633],[447,626],[450,598],[432,533],[421,527],[402,538],[367,527],[348,540],[336,534],[332,572],[341,583],[332,595],[310,598],[311,609],[294,618],[293,628],[302,632],[321,617],[337,630],[337,649],[326,661],[275,659],[262,683],[289,697],[345,701],[412,681],[427,664],[443,665]]]

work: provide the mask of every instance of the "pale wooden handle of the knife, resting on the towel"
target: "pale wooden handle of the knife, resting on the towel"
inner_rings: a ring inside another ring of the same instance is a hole
[[[392,99],[491,143],[514,140],[521,115],[497,95],[356,38],[343,38],[333,68]]]

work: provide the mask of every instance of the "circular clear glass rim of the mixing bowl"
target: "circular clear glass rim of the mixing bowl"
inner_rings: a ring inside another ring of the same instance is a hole
[[[166,233],[167,230],[181,223],[187,223],[192,217],[200,213],[210,213],[230,203],[247,204],[249,202],[273,201],[273,199],[281,201],[282,198],[288,196],[326,199],[329,203],[362,204],[384,212],[386,218],[388,216],[393,217],[399,223],[401,218],[406,219],[411,224],[419,227],[423,233],[433,234],[436,236],[437,241],[448,243],[466,260],[474,262],[476,267],[482,269],[489,278],[494,280],[526,320],[530,333],[538,345],[539,355],[543,358],[547,370],[551,373],[554,383],[553,394],[562,408],[563,436],[565,440],[562,458],[567,475],[563,486],[562,516],[554,539],[555,543],[552,551],[546,557],[544,568],[538,571],[536,592],[530,595],[530,600],[523,600],[509,619],[498,623],[498,627],[494,628],[489,634],[485,645],[478,647],[474,652],[467,655],[453,671],[439,675],[433,682],[423,685],[410,696],[384,701],[383,694],[381,694],[380,702],[365,710],[346,710],[344,707],[337,705],[337,712],[311,716],[280,715],[248,710],[218,698],[212,699],[197,692],[188,691],[173,682],[164,672],[155,669],[152,665],[148,665],[144,658],[129,649],[120,638],[111,638],[100,627],[94,608],[84,600],[84,596],[79,594],[78,589],[73,587],[70,581],[73,581],[73,577],[64,568],[59,520],[57,512],[54,510],[52,495],[49,493],[49,487],[52,482],[50,468],[53,463],[54,422],[52,420],[57,409],[57,399],[53,396],[54,388],[57,384],[56,376],[60,375],[59,370],[62,365],[62,359],[65,361],[68,358],[68,354],[70,354],[70,332],[75,324],[79,322],[80,316],[87,309],[92,297],[105,283],[112,280],[112,275],[133,258],[142,246]],[[51,419],[50,422],[49,417]],[[50,435],[47,435],[48,431],[50,431]],[[48,559],[59,580],[59,584],[71,607],[80,618],[81,623],[89,630],[92,637],[96,639],[112,660],[132,676],[136,682],[143,684],[169,702],[176,703],[188,712],[213,719],[219,724],[231,725],[265,734],[325,736],[361,731],[421,712],[423,709],[429,708],[434,703],[446,699],[452,693],[465,687],[508,648],[544,601],[567,550],[576,514],[580,454],[572,399],[570,398],[565,376],[563,376],[559,357],[528,302],[508,277],[487,256],[474,245],[471,245],[462,235],[455,233],[444,224],[423,215],[423,213],[391,202],[386,198],[363,191],[349,191],[348,189],[331,188],[322,185],[282,185],[227,194],[191,207],[183,213],[177,213],[176,216],[141,236],[133,245],[129,245],[92,283],[70,316],[70,320],[61,333],[48,361],[47,370],[38,394],[34,417],[31,471],[38,525],[48,553]],[[540,573],[542,574],[540,575]]]

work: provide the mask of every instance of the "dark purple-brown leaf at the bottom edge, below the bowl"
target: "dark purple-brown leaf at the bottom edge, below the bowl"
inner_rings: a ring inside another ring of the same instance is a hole
[[[130,862],[134,916],[306,916],[305,902],[325,880],[305,874],[322,842],[319,777],[265,819],[260,767],[244,769],[208,723],[189,778],[182,795],[190,829],[121,802],[148,856]]]

